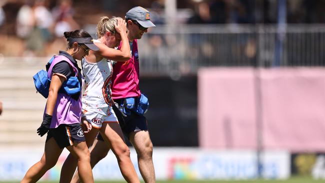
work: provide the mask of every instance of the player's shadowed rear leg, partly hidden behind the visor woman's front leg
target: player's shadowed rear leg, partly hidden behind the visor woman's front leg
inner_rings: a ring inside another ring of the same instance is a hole
[[[97,132],[98,129],[92,128],[89,132],[84,133],[87,146],[90,146],[92,144]],[[77,157],[69,153],[61,168],[60,182],[70,182],[76,167]]]

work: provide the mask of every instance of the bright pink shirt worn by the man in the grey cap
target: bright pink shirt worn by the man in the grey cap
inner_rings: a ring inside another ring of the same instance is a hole
[[[131,58],[125,62],[117,61],[113,66],[111,92],[113,99],[140,96],[141,94],[139,88],[139,57],[136,39],[132,42]]]

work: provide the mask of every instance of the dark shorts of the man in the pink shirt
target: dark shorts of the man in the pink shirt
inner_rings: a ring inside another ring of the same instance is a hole
[[[130,132],[148,130],[147,121],[144,115],[131,112],[130,116],[123,116],[121,111],[119,111],[115,105],[113,105],[112,108],[117,116],[119,125],[127,138],[129,138]],[[97,134],[96,138],[103,141],[100,133]]]

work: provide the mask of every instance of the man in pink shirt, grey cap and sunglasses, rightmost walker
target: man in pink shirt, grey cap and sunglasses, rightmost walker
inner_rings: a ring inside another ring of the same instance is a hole
[[[155,26],[150,21],[150,12],[143,7],[136,6],[126,12],[127,38],[131,49],[131,58],[125,62],[116,62],[112,75],[112,98],[118,105],[124,105],[122,113],[113,107],[123,133],[128,137],[137,153],[140,173],[144,182],[155,182],[155,173],[152,163],[152,142],[150,140],[147,121],[143,113],[125,109],[126,98],[135,102],[143,95],[139,89],[139,54],[137,40],[140,39],[148,27]],[[90,147],[90,164],[93,167],[100,159],[106,156],[109,147],[100,135]]]

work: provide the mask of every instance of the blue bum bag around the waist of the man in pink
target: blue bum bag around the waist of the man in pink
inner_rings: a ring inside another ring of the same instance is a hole
[[[124,102],[120,105],[119,109],[127,116],[131,115],[131,112],[143,115],[148,110],[149,101],[146,95],[141,93],[139,97],[124,98]]]

